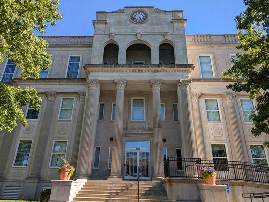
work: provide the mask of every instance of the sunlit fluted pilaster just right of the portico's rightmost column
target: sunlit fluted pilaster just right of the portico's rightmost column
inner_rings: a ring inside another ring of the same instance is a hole
[[[205,140],[203,136],[201,114],[200,114],[200,108],[199,108],[200,97],[201,97],[200,93],[192,94],[193,121],[194,121],[194,126],[195,126],[195,136],[196,136],[196,143],[197,143],[198,158],[201,158],[202,160],[206,160],[205,143],[204,143]]]

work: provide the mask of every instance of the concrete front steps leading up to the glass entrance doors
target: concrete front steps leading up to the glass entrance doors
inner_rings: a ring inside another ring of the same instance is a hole
[[[136,181],[88,180],[74,197],[74,201],[137,201]],[[162,182],[140,181],[139,201],[168,200]]]

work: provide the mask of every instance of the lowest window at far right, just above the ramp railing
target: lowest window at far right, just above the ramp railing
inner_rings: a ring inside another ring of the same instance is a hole
[[[257,165],[268,163],[263,145],[250,145],[250,151],[253,163]]]

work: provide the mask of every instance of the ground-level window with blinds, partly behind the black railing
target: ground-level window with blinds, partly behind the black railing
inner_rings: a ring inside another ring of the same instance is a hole
[[[224,144],[211,144],[214,168],[216,171],[229,171]]]

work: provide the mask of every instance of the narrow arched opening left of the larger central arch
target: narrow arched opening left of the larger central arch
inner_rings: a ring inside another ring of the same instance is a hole
[[[103,64],[118,64],[119,46],[116,43],[109,43],[104,47]]]

